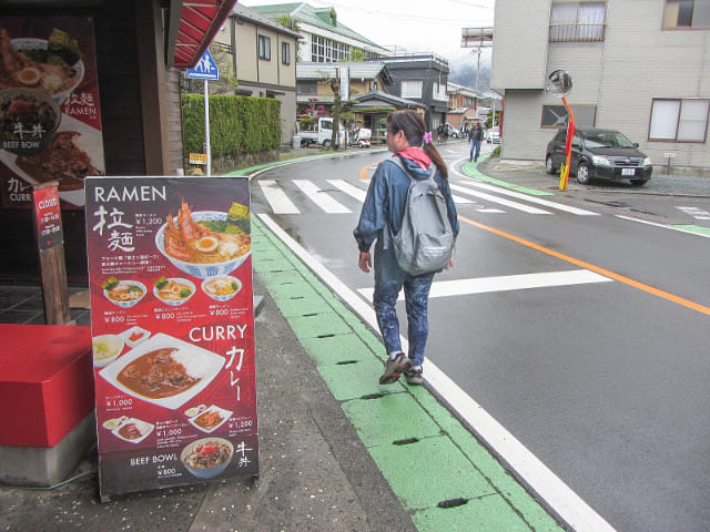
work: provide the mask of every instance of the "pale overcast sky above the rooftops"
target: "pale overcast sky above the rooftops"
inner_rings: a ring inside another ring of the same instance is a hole
[[[286,3],[239,0],[246,7]],[[337,20],[383,45],[407,52],[434,52],[448,60],[462,49],[462,28],[493,27],[495,0],[308,0],[314,8],[333,7]]]

